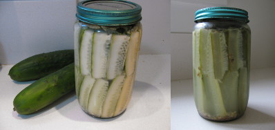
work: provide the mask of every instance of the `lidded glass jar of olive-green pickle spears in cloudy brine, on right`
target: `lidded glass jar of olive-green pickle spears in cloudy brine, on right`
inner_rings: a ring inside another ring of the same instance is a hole
[[[239,118],[249,96],[250,36],[247,11],[213,7],[196,12],[193,93],[202,118]]]

